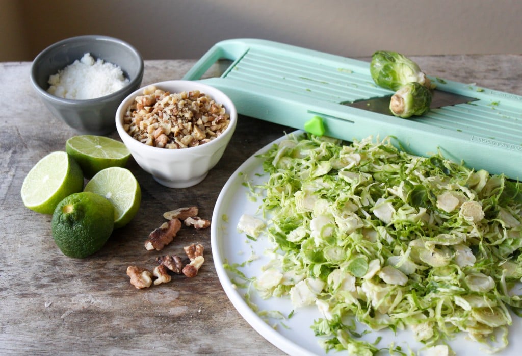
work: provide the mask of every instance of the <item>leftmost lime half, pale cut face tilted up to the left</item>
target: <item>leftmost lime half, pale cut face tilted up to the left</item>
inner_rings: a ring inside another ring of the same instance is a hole
[[[43,214],[52,214],[65,197],[81,192],[84,175],[67,153],[56,151],[43,157],[27,173],[20,195],[23,205]]]

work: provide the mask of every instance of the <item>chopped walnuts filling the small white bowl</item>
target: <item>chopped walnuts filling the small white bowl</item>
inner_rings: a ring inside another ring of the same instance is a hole
[[[160,148],[203,145],[230,124],[224,106],[198,90],[170,93],[155,86],[127,108],[123,127],[138,141]]]

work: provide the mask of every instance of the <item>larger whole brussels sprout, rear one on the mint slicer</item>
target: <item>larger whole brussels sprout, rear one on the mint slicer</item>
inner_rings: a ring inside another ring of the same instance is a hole
[[[409,82],[432,88],[431,81],[417,63],[393,51],[377,51],[372,55],[370,73],[379,87],[397,91]]]

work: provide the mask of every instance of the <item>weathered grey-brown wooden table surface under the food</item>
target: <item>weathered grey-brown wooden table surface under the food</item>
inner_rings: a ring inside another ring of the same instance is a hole
[[[430,75],[522,94],[522,55],[412,58]],[[143,84],[179,79],[194,63],[146,61]],[[206,262],[196,278],[174,277],[137,290],[125,271],[131,264],[155,265],[157,254],[143,243],[164,221],[164,211],[197,205],[199,215],[210,219],[232,172],[292,129],[241,116],[223,159],[203,182],[186,189],[159,185],[131,159],[127,168],[143,191],[138,216],[98,253],[72,259],[54,244],[51,217],[26,209],[20,198],[34,163],[64,150],[76,134],[37,98],[30,65],[0,64],[0,354],[281,354],[227,299],[213,266],[209,229],[184,230],[167,248],[174,253],[192,242],[205,245]]]

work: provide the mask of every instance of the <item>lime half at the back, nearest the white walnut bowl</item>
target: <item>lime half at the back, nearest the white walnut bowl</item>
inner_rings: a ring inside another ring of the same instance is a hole
[[[80,164],[87,178],[109,167],[125,167],[131,153],[120,141],[105,136],[73,136],[65,151]]]

